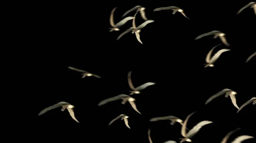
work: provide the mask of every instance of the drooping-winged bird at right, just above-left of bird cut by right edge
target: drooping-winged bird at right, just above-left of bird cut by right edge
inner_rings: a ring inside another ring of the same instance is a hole
[[[212,97],[210,97],[209,99],[207,99],[207,101],[205,102],[205,104],[208,104],[210,101],[212,101],[214,98],[217,98],[223,94],[226,94],[225,97],[227,98],[228,96],[230,96],[231,101],[233,103],[233,105],[239,109],[239,107],[236,104],[236,92],[234,92],[233,90],[227,89],[225,88],[224,90],[221,90],[220,92],[216,93],[215,95],[212,95]]]

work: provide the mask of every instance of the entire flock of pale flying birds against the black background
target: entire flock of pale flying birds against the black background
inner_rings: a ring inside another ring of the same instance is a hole
[[[243,8],[241,8],[237,14],[239,14],[242,10],[244,10],[244,8],[247,8],[249,7],[250,8],[253,8],[254,9],[254,12],[256,14],[256,3],[255,2],[251,2],[249,4],[247,4],[246,6],[244,6]],[[134,11],[136,10],[136,14],[134,15],[134,17],[126,17],[124,18],[123,20],[121,20],[120,22],[118,23],[114,23],[114,20],[113,20],[113,13],[115,11],[116,8],[113,8],[113,10],[111,11],[111,16],[110,16],[110,24],[112,26],[112,28],[110,28],[110,31],[119,31],[120,27],[122,25],[124,25],[128,20],[133,20],[132,22],[132,27],[129,28],[128,30],[126,30],[125,32],[123,32],[122,34],[119,35],[119,37],[117,38],[120,39],[123,35],[131,32],[132,34],[135,33],[136,37],[137,37],[137,40],[143,44],[140,40],[140,30],[142,28],[145,27],[145,25],[151,23],[151,22],[154,22],[154,20],[148,20],[147,17],[145,16],[145,8],[143,6],[135,6],[134,8],[131,8],[130,10],[128,10],[127,12],[125,12],[125,14],[122,15],[122,17],[124,17],[125,15],[127,15],[128,13],[130,13],[131,11]],[[184,17],[186,17],[186,15],[184,14],[183,10],[176,7],[176,6],[169,6],[169,7],[162,7],[162,8],[156,8],[154,9],[154,11],[160,11],[160,10],[173,10],[173,13],[172,14],[175,14],[176,12],[180,12],[181,14],[183,14]],[[140,12],[141,14],[141,17],[143,18],[143,20],[145,20],[144,23],[142,23],[141,25],[139,25],[138,27],[135,25],[135,17],[137,15],[137,13]],[[189,19],[188,17],[186,17],[187,19]],[[230,46],[225,38],[225,34],[221,31],[211,31],[211,32],[208,32],[206,34],[202,34],[200,36],[197,36],[195,39],[200,39],[204,36],[209,36],[209,35],[214,35],[213,38],[217,38],[219,37],[221,39],[221,42],[224,43],[224,45],[226,46]],[[221,45],[221,44],[219,44]],[[217,45],[218,46],[218,45]],[[217,47],[213,47],[209,53],[207,54],[207,57],[206,57],[206,62],[207,64],[205,64],[205,67],[214,67],[214,62],[219,58],[219,56],[223,53],[223,52],[226,52],[226,51],[229,51],[230,49],[221,49],[219,50],[217,53],[215,53],[214,56],[211,57],[212,55],[212,51]],[[249,62],[250,59],[256,55],[256,52],[253,53],[251,56],[249,56],[246,60],[246,62]],[[80,69],[77,69],[75,67],[68,67],[70,70],[75,70],[77,72],[80,72],[82,73],[82,78],[86,77],[86,76],[94,76],[96,78],[101,78],[101,76],[98,76],[96,74],[93,74],[93,73],[90,73],[90,72],[87,72],[85,70],[80,70]],[[146,87],[148,86],[151,86],[151,85],[154,85],[155,83],[154,82],[148,82],[148,83],[145,83],[139,87],[134,87],[134,85],[132,84],[132,81],[131,81],[131,72],[128,73],[128,85],[129,87],[131,88],[131,93],[130,95],[133,95],[133,94],[139,94],[141,90],[144,90]],[[230,96],[230,99],[233,103],[233,105],[238,109],[237,113],[239,111],[241,111],[241,109],[243,109],[246,105],[250,104],[253,102],[253,104],[256,104],[256,97],[253,97],[251,98],[249,101],[247,101],[246,103],[244,103],[243,105],[241,105],[241,107],[239,107],[237,104],[236,104],[236,95],[237,93],[233,90],[230,90],[230,89],[224,89],[224,90],[221,90],[220,92],[216,93],[215,95],[212,95],[206,102],[205,104],[209,104],[209,102],[211,102],[213,99],[221,96],[221,95],[225,95],[225,97],[227,98],[228,96]],[[139,110],[137,109],[136,107],[136,104],[135,104],[135,99],[132,98],[130,95],[125,95],[125,94],[120,94],[120,95],[117,95],[117,96],[114,96],[114,97],[111,97],[111,98],[107,98],[103,101],[100,101],[98,106],[102,106],[102,105],[105,105],[109,102],[112,102],[112,101],[117,101],[117,100],[122,100],[122,104],[125,104],[127,101],[129,102],[129,104],[131,104],[131,107],[136,111],[138,112],[139,114],[141,114],[139,112]],[[59,102],[57,104],[54,104],[50,107],[47,107],[46,109],[43,109],[38,115],[42,115],[44,113],[46,113],[47,111],[51,110],[51,109],[55,109],[55,108],[58,108],[58,107],[62,107],[61,108],[61,111],[64,111],[65,109],[68,110],[68,112],[70,113],[70,116],[76,121],[79,123],[79,121],[76,119],[75,117],[75,114],[74,114],[74,111],[73,111],[73,108],[74,106],[67,103],[67,102]],[[175,116],[164,116],[164,117],[156,117],[156,118],[151,118],[149,119],[149,121],[151,122],[155,122],[155,121],[162,121],[162,120],[169,120],[171,121],[171,125],[174,125],[176,122],[180,123],[180,125],[182,126],[181,127],[181,135],[183,136],[183,138],[180,138],[180,143],[184,142],[184,141],[187,141],[187,142],[192,142],[191,138],[197,134],[197,132],[199,132],[199,130],[207,125],[207,124],[210,124],[210,123],[213,123],[212,121],[201,121],[199,122],[198,124],[196,124],[192,129],[187,129],[186,128],[186,125],[187,125],[187,122],[189,120],[189,118],[195,114],[195,112],[192,112],[190,115],[188,115],[185,119],[185,121],[181,120],[180,118],[177,118]],[[116,118],[114,118],[108,125],[111,125],[114,121],[118,120],[118,119],[121,119],[121,120],[124,120],[125,122],[125,125],[131,129],[131,127],[129,126],[128,124],[128,118],[129,116],[127,115],[124,115],[124,114],[121,114],[119,116],[117,116]],[[229,132],[224,138],[223,140],[221,141],[221,143],[227,143],[227,139],[230,137],[231,134],[233,134],[234,132],[238,131],[240,128],[237,128],[237,129],[234,129],[233,131]],[[187,132],[187,130],[189,130],[189,132]],[[148,129],[148,140],[150,143],[152,143],[152,140],[151,140],[151,137],[150,137],[150,132],[151,132],[151,129]],[[241,143],[242,141],[244,140],[247,140],[247,139],[251,139],[251,138],[254,138],[253,136],[248,136],[248,135],[241,135],[239,137],[237,137],[235,140],[233,140],[232,143]],[[173,140],[169,140],[169,141],[166,141],[164,143],[176,143],[175,141]]]

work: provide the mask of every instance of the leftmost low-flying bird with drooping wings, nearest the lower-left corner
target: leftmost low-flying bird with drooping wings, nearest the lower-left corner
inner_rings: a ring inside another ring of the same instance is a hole
[[[47,107],[47,108],[45,108],[45,109],[43,109],[38,115],[40,116],[40,115],[44,114],[45,112],[47,112],[47,111],[49,111],[49,110],[51,110],[51,109],[58,108],[58,107],[62,107],[62,108],[61,108],[61,111],[64,111],[64,110],[67,108],[68,112],[70,113],[70,116],[71,116],[77,123],[79,123],[79,121],[77,121],[77,119],[76,119],[76,117],[75,117],[75,113],[74,113],[74,111],[73,111],[74,106],[71,105],[71,104],[69,104],[69,103],[67,103],[67,102],[63,102],[63,101],[62,101],[62,102],[59,102],[59,103],[57,103],[57,104],[54,104],[54,105],[52,105],[52,106],[50,106],[50,107]]]

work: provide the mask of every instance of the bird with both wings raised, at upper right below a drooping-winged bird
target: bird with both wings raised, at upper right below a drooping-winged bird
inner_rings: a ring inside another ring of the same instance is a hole
[[[221,44],[219,44],[221,45]],[[218,46],[218,45],[217,45]],[[212,50],[209,51],[209,53],[207,54],[206,58],[205,58],[205,62],[207,64],[204,64],[205,66],[204,67],[214,67],[214,62],[217,61],[217,59],[221,56],[221,54],[223,52],[226,52],[226,51],[229,51],[230,49],[221,49],[221,50],[218,50],[217,53],[214,54],[214,56],[212,56],[212,51],[214,50],[214,48],[216,48],[217,46],[213,47]],[[212,58],[211,58],[212,56]]]

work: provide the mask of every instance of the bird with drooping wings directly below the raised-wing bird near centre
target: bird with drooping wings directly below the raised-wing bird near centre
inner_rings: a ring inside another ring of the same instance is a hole
[[[119,100],[119,99],[122,99],[122,104],[125,104],[127,101],[131,104],[131,107],[137,111],[138,113],[140,113],[136,107],[136,104],[134,103],[135,99],[134,98],[131,98],[131,96],[129,95],[125,95],[125,94],[120,94],[120,95],[117,95],[117,96],[114,96],[114,97],[111,97],[111,98],[107,98],[103,101],[100,101],[98,106],[102,106],[104,104],[107,104],[108,102],[111,102],[111,101],[116,101],[116,100]],[[141,114],[141,113],[140,113]]]

